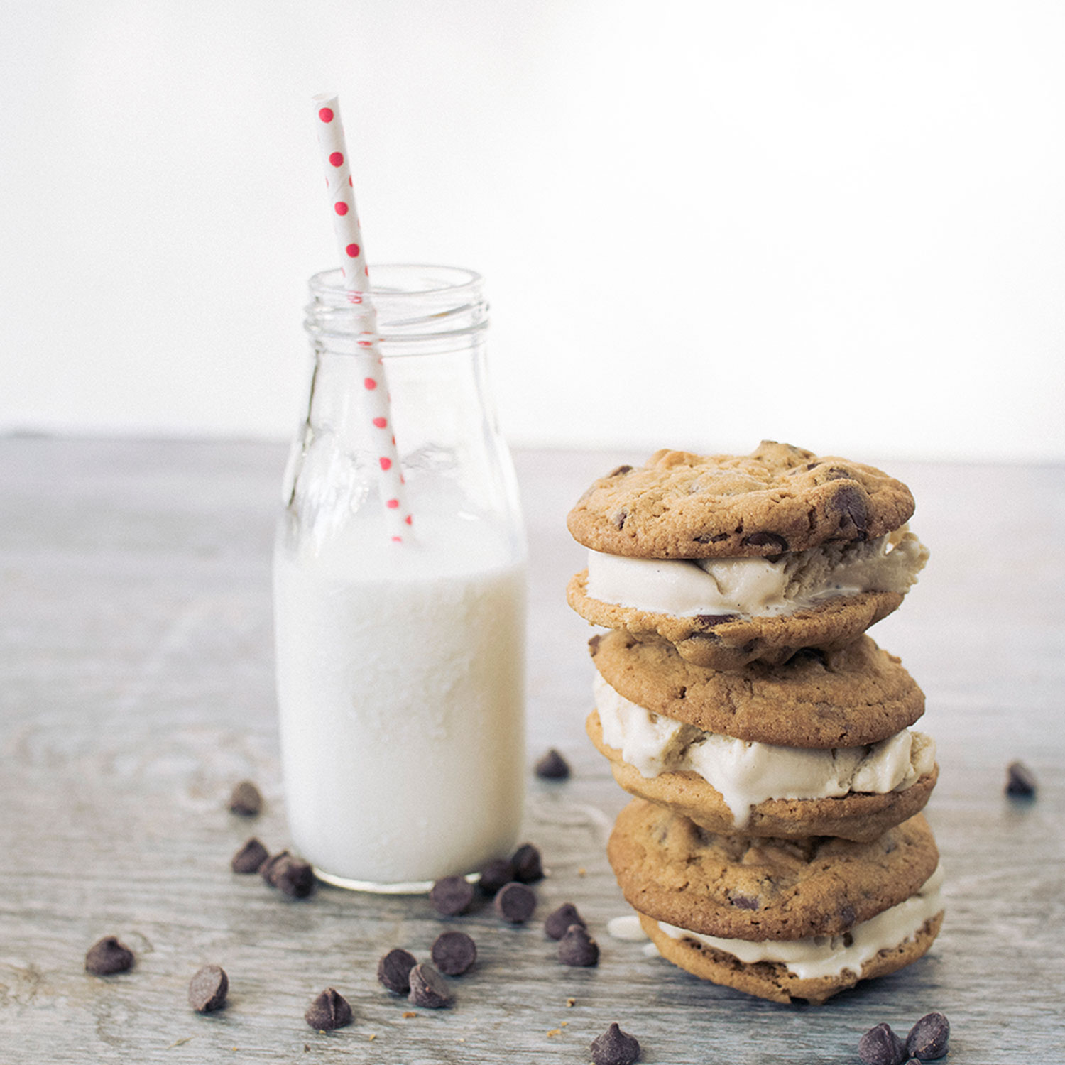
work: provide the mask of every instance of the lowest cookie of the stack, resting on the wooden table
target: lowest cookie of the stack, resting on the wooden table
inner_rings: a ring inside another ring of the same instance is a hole
[[[902,943],[885,947],[867,957],[857,971],[845,967],[823,976],[804,976],[801,967],[797,972],[784,962],[742,962],[735,954],[693,938],[694,934],[659,923],[645,914],[639,917],[643,931],[662,957],[693,976],[772,1002],[805,1001],[814,1005],[823,1005],[833,995],[848,990],[859,980],[886,977],[916,962],[932,946],[943,924],[940,910]]]

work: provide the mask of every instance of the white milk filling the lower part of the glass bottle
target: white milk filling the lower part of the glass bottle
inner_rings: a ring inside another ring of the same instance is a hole
[[[485,523],[416,521],[416,544],[356,519],[275,558],[292,848],[327,880],[473,872],[521,825],[524,562]]]

